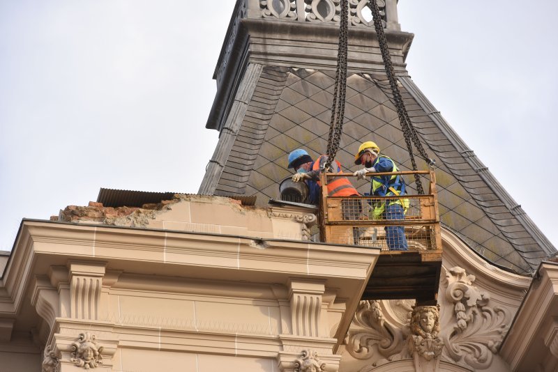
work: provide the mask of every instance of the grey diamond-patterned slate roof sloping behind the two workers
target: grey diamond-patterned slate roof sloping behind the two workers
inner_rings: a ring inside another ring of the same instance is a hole
[[[333,71],[264,67],[223,172],[206,174],[204,183],[213,185],[217,195],[257,195],[259,205],[277,199],[278,183],[291,174],[287,154],[306,148],[317,157],[326,149],[334,76]],[[534,272],[555,247],[409,77],[400,77],[400,88],[423,146],[437,164],[444,227],[488,261],[522,274]],[[361,142],[370,140],[400,169],[412,169],[390,98],[385,75],[348,75],[345,124],[336,157],[348,170],[359,168],[353,165],[353,154]],[[417,162],[426,169],[422,160]],[[367,192],[369,185],[358,187]]]

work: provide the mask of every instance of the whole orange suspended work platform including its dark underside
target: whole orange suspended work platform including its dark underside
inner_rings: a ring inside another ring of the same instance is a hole
[[[369,173],[368,176],[415,174],[423,184],[429,183],[428,194],[413,194],[407,186],[404,196],[328,196],[328,181],[347,177],[354,184],[356,178],[352,173],[322,173],[319,217],[322,240],[381,249],[363,300],[415,298],[420,303],[436,302],[442,238],[434,171]],[[405,248],[408,250],[400,250]]]

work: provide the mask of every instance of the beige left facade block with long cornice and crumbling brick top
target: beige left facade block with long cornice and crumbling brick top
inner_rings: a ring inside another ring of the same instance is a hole
[[[1,287],[8,371],[338,371],[379,251],[309,242],[303,208],[218,196],[113,216],[91,203],[22,224]]]

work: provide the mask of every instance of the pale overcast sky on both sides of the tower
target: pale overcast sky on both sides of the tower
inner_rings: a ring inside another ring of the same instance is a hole
[[[0,250],[22,218],[100,187],[197,192],[233,8],[0,0]],[[414,82],[555,247],[557,14],[556,0],[399,1]]]

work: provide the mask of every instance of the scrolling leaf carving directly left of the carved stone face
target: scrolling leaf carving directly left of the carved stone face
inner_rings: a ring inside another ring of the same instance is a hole
[[[385,358],[400,352],[403,335],[384,320],[379,301],[361,301],[347,333],[347,351],[356,359],[370,359],[374,346]]]

